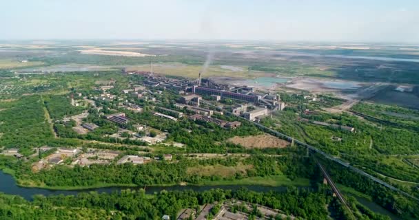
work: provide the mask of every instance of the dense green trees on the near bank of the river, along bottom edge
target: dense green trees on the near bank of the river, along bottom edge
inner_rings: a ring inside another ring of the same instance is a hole
[[[0,195],[2,219],[161,219],[163,214],[176,219],[182,208],[198,210],[199,205],[239,199],[249,203],[282,210],[303,219],[327,218],[326,204],[330,197],[321,192],[289,188],[286,192],[252,192],[208,190],[203,192],[162,191],[145,195],[143,190],[121,193],[79,193],[77,196],[34,197],[28,202],[17,196]],[[321,205],[320,205],[321,204]],[[320,205],[320,206],[319,206]],[[215,210],[214,210],[215,211]]]

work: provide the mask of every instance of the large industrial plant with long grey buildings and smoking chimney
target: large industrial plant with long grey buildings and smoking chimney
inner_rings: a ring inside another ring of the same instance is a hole
[[[246,85],[242,87],[220,85],[209,78],[202,78],[202,72],[199,72],[198,78],[193,80],[167,78],[152,71],[129,72],[127,74],[144,76],[145,80],[143,80],[143,83],[147,87],[171,89],[178,91],[179,94],[185,94],[176,100],[175,107],[187,109],[196,114],[212,115],[213,110],[200,107],[203,99],[216,100],[217,102],[223,99],[236,100],[242,104],[240,104],[241,107],[238,107],[238,109],[232,109],[232,113],[252,121],[257,121],[274,111],[282,111],[287,106],[285,102],[280,100],[279,95],[271,94],[270,91],[256,91],[254,87]]]

